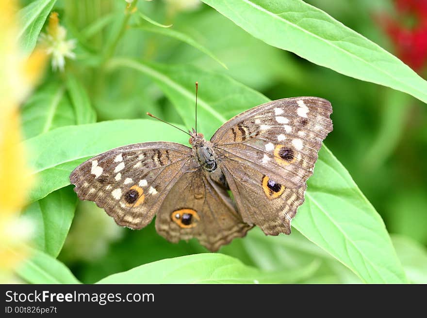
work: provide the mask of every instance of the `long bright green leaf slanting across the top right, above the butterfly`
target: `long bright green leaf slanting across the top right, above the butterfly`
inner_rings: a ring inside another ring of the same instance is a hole
[[[427,102],[427,82],[409,66],[302,0],[203,0],[254,37],[346,76]]]

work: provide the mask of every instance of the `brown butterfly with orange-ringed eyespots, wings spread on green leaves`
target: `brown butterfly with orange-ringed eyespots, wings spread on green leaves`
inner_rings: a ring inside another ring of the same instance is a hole
[[[161,141],[101,153],[70,181],[118,225],[140,229],[156,215],[170,242],[197,238],[216,251],[253,226],[290,234],[331,113],[318,97],[272,101],[231,118],[210,141],[193,129],[192,148]]]

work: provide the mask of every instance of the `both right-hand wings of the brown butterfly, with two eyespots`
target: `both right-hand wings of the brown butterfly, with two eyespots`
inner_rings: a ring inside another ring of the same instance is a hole
[[[211,141],[248,224],[289,234],[304,202],[323,139],[332,131],[330,103],[298,97],[254,107],[225,123]]]

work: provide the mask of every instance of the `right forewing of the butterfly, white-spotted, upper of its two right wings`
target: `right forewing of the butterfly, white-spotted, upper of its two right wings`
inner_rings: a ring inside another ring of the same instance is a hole
[[[211,141],[224,164],[248,166],[297,188],[312,175],[317,151],[332,131],[331,113],[322,98],[280,99],[230,119]]]

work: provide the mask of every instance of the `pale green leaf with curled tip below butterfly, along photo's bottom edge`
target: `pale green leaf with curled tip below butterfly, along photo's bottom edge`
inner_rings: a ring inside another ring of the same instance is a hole
[[[309,277],[317,262],[296,271],[262,272],[223,254],[167,258],[101,279],[98,284],[268,284],[295,283]]]

